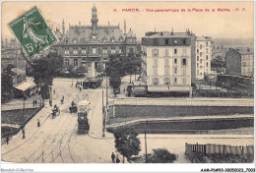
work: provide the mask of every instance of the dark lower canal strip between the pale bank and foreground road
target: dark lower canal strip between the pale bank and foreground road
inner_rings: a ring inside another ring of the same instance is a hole
[[[146,122],[125,125],[135,128],[143,134]],[[207,134],[209,130],[237,129],[253,127],[254,118],[213,118],[213,119],[191,119],[191,120],[158,120],[147,123],[148,134]],[[118,128],[118,127],[116,127]],[[107,128],[113,132],[116,128]]]

